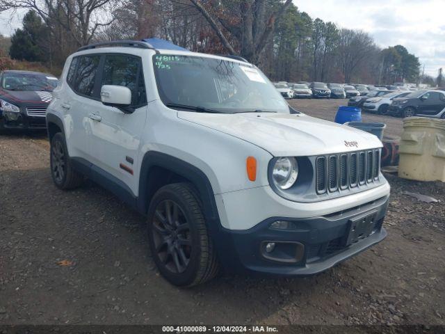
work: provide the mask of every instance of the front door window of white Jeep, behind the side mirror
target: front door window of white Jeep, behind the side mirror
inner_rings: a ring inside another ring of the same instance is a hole
[[[131,90],[131,105],[147,102],[140,58],[124,54],[105,57],[102,85],[126,86]]]

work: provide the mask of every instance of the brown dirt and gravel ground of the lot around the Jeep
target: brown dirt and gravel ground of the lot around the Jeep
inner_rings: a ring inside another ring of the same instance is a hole
[[[332,120],[344,101],[291,103]],[[401,133],[400,119],[385,122]],[[178,289],[154,267],[144,218],[92,183],[56,189],[48,149],[44,135],[0,136],[0,325],[445,325],[444,183],[387,175],[387,239],[325,273]]]

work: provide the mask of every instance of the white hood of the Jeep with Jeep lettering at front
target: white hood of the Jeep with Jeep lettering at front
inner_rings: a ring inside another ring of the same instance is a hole
[[[191,113],[178,118],[241,138],[275,157],[312,156],[381,148],[373,134],[305,114]]]

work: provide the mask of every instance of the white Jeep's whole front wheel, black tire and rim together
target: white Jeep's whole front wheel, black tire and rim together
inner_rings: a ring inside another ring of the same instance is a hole
[[[161,275],[179,287],[202,284],[218,273],[216,250],[195,193],[190,184],[168,184],[156,191],[148,209],[153,260]]]

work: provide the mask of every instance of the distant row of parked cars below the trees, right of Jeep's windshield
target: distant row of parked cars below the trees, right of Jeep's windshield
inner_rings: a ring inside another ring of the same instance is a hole
[[[334,98],[345,99],[348,97],[367,96],[375,90],[401,90],[410,92],[413,88],[407,86],[373,86],[364,84],[325,84],[324,82],[299,81],[297,83],[279,81],[273,83],[275,88],[286,99],[298,98]]]

